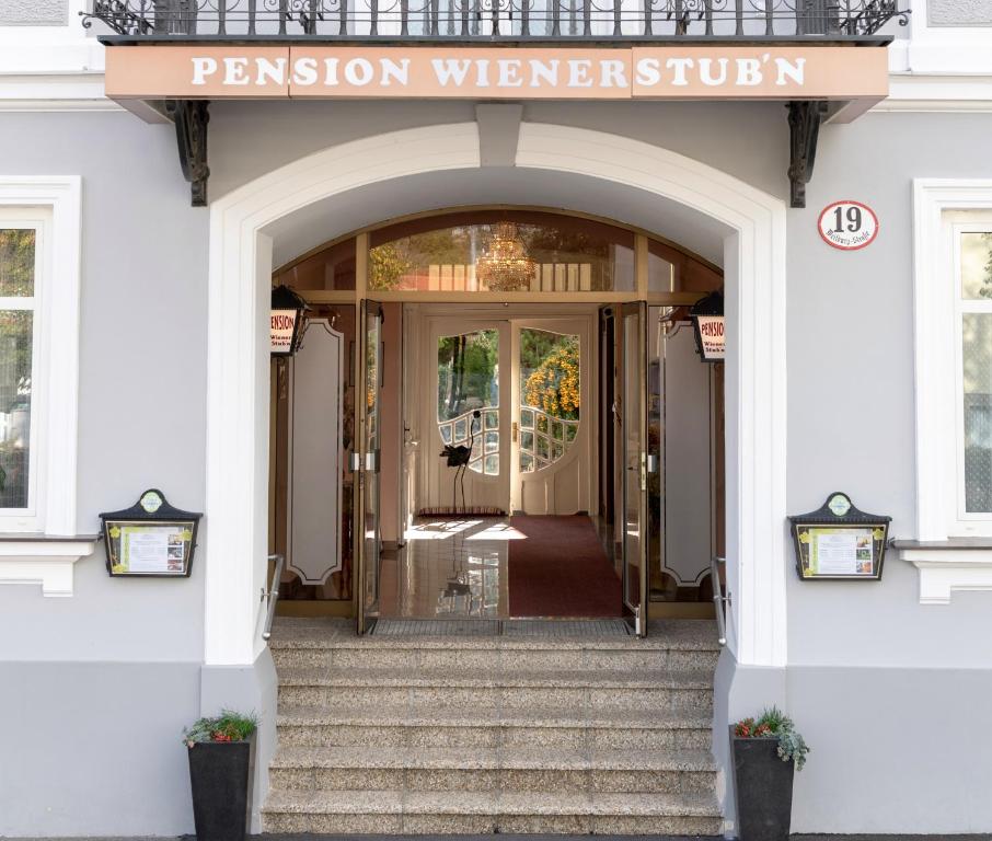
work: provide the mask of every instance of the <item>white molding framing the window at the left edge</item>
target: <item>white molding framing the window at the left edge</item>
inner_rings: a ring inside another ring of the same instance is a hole
[[[0,207],[42,207],[51,212],[45,270],[36,291],[39,358],[37,510],[7,530],[46,535],[76,533],[76,465],[79,403],[79,295],[82,183],[78,175],[0,176]],[[34,395],[33,395],[34,396]]]

